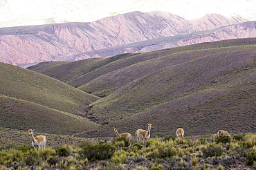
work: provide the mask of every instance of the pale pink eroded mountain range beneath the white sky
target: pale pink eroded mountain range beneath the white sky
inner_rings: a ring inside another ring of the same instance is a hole
[[[227,18],[214,14],[198,21],[188,21],[167,12],[129,12],[91,23],[0,28],[0,62],[19,65],[75,61],[160,50],[181,46],[184,44],[180,42],[183,39],[217,31],[205,29],[222,30],[227,24],[229,26],[242,21],[239,17]],[[199,30],[203,32],[194,32]],[[241,34],[245,37],[255,37],[249,31],[241,28]],[[198,39],[199,42],[202,41]]]

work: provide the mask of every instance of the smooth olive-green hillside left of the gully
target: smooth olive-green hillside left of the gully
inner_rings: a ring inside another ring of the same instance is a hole
[[[1,127],[70,135],[98,126],[84,112],[99,97],[31,70],[0,67]]]

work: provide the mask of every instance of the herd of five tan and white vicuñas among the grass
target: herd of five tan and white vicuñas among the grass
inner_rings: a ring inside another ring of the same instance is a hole
[[[143,144],[147,145],[147,140],[149,140],[149,138],[150,138],[151,128],[152,128],[152,124],[147,124],[147,131],[145,131],[143,129],[138,129],[135,132],[136,140],[138,143],[143,142]],[[46,136],[38,135],[37,137],[34,138],[33,131],[34,130],[32,130],[32,129],[28,130],[28,135],[31,136],[33,147],[35,148],[35,150],[37,150],[37,148],[44,149],[46,147]],[[130,142],[131,133],[120,133],[119,134],[118,129],[115,127],[113,128],[113,131],[115,131],[118,138],[125,137]],[[230,134],[227,131],[220,130],[220,131],[218,131],[217,134],[213,135],[213,138],[219,137],[220,135],[230,136]],[[182,128],[177,129],[176,136],[177,136],[177,138],[181,138],[183,140],[184,139],[184,129],[182,129]]]

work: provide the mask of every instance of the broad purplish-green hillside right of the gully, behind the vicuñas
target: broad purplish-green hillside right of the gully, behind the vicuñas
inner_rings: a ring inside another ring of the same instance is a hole
[[[113,136],[113,126],[134,134],[147,123],[153,136],[174,135],[181,126],[185,135],[244,133],[256,129],[255,44],[255,38],[231,39],[28,69],[103,97],[86,115],[104,126],[81,135]],[[58,68],[77,68],[80,76],[56,77]]]

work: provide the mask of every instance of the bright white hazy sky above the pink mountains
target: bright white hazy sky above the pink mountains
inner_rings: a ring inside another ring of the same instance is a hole
[[[131,11],[162,10],[185,19],[207,13],[256,20],[256,0],[0,0],[0,26],[95,21]]]

